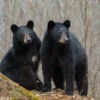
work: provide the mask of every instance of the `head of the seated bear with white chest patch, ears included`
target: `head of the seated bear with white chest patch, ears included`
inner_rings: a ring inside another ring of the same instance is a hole
[[[18,27],[16,24],[11,25],[11,31],[13,32],[13,41],[20,43],[21,45],[28,45],[35,39],[35,32],[33,31],[34,22],[29,20],[26,26]]]

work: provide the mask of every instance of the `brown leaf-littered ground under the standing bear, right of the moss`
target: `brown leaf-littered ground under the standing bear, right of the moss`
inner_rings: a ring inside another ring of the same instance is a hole
[[[74,96],[67,96],[64,94],[64,91],[62,90],[47,93],[35,93],[35,95],[39,97],[41,100],[94,100],[89,96],[84,97],[78,95],[77,93],[75,93]]]

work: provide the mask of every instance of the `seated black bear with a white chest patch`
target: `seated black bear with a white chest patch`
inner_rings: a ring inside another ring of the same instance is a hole
[[[25,26],[11,25],[13,47],[1,61],[0,71],[26,89],[38,90],[43,86],[37,76],[41,41],[33,27],[31,20]]]

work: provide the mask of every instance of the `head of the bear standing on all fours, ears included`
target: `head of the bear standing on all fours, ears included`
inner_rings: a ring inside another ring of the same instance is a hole
[[[47,26],[48,35],[53,41],[65,44],[69,40],[69,27],[69,20],[66,20],[64,23],[50,20]]]

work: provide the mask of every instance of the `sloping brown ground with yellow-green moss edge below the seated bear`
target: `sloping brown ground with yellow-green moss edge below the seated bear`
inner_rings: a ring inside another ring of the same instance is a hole
[[[40,100],[32,92],[0,73],[0,100]]]

